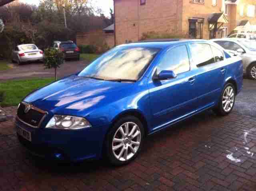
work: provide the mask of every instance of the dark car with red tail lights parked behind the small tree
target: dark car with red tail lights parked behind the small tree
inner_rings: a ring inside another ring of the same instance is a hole
[[[76,60],[80,60],[80,50],[76,46],[76,44],[71,40],[54,41],[53,47],[64,52],[65,58],[73,58]]]

